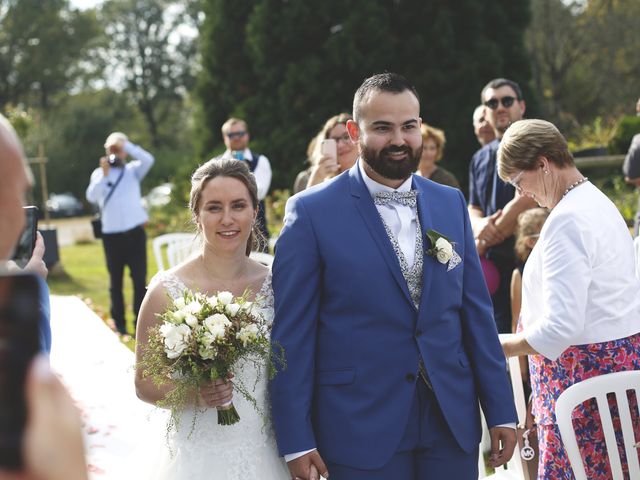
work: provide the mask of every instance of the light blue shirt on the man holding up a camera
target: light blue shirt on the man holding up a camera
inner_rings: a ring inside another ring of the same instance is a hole
[[[100,206],[102,232],[107,234],[126,232],[149,219],[142,207],[140,182],[153,165],[153,155],[131,142],[125,142],[124,151],[133,158],[132,161],[127,162],[124,167],[110,168],[106,177],[101,167],[96,168],[87,187],[87,200]],[[118,181],[122,168],[122,179],[115,187],[106,207],[102,208],[109,191]]]

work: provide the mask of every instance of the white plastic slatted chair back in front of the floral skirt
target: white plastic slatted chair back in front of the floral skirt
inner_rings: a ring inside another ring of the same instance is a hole
[[[578,441],[573,430],[571,412],[576,406],[591,398],[595,398],[598,404],[598,412],[602,420],[602,431],[604,432],[613,479],[623,478],[609,402],[607,401],[607,394],[609,393],[615,393],[620,412],[620,424],[622,426],[624,450],[629,465],[629,476],[631,479],[640,479],[637,450],[640,445],[636,443],[633,433],[627,390],[634,390],[636,398],[640,399],[640,371],[616,372],[589,378],[567,388],[558,397],[556,402],[556,422],[558,423],[560,437],[567,451],[576,480],[587,480],[587,476],[578,448]]]

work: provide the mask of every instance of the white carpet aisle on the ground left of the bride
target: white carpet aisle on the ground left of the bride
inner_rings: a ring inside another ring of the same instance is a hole
[[[51,328],[51,365],[81,409],[90,478],[115,479],[164,413],[138,400],[133,353],[82,300],[52,296]]]

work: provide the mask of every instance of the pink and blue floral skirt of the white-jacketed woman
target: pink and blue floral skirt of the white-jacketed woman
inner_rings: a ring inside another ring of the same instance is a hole
[[[533,414],[537,424],[540,461],[538,478],[544,480],[573,479],[560,433],[555,422],[556,400],[571,385],[598,375],[628,370],[640,370],[640,334],[609,342],[569,347],[560,357],[549,360],[542,355],[529,357]],[[637,399],[629,397],[636,439],[640,439],[640,419]],[[617,405],[612,398],[609,406],[614,428],[620,431]],[[613,478],[609,467],[600,415],[594,400],[579,405],[572,413],[578,446],[590,480]],[[622,438],[618,439],[622,445]],[[621,452],[623,453],[623,452]],[[626,464],[624,453],[623,464]],[[626,465],[623,466],[625,468]]]

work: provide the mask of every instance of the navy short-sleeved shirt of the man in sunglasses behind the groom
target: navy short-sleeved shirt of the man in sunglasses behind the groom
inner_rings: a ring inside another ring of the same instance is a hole
[[[502,181],[497,172],[500,140],[495,139],[478,150],[469,165],[469,205],[479,207],[483,215],[493,215],[515,197],[515,188]]]

